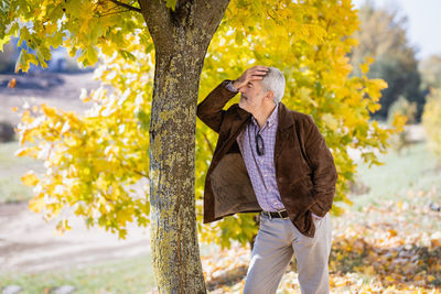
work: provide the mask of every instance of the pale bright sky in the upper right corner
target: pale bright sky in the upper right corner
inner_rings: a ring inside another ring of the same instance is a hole
[[[356,8],[365,0],[353,0]],[[377,7],[395,6],[401,8],[401,14],[408,17],[408,37],[417,52],[417,58],[432,54],[441,55],[441,1],[440,0],[373,0]]]

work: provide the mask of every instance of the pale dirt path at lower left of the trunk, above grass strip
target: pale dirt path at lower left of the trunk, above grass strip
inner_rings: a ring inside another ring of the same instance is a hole
[[[88,230],[74,214],[68,219],[72,230],[60,236],[54,232],[56,220],[45,222],[26,202],[0,205],[0,273],[54,270],[150,251],[149,228],[133,226],[126,240],[118,240],[105,229]]]

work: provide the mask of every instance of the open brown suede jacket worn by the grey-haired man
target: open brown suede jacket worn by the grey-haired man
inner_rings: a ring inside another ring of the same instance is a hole
[[[223,110],[236,92],[225,79],[197,105],[197,117],[218,133],[216,149],[205,178],[203,222],[260,208],[245,161],[236,142],[251,113],[237,104]],[[337,172],[323,135],[310,115],[279,105],[275,167],[279,193],[292,224],[306,237],[314,237],[311,211],[323,217],[331,208]]]

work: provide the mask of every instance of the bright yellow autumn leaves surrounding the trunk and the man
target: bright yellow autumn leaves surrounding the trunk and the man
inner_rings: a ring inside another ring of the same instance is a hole
[[[169,8],[176,0],[166,1]],[[137,4],[137,2],[135,2]],[[19,126],[19,156],[44,161],[46,173],[30,171],[23,183],[34,186],[30,208],[47,218],[74,207],[88,224],[117,231],[125,238],[126,226],[149,222],[149,195],[129,185],[149,178],[149,120],[155,52],[138,7],[125,9],[111,1],[2,1],[0,47],[11,35],[20,35],[35,54],[22,51],[17,72],[29,64],[46,66],[50,47],[65,46],[78,62],[95,65],[96,77],[114,89],[83,91],[93,102],[84,116],[46,105],[22,109]],[[138,10],[137,10],[138,9]],[[346,56],[357,40],[351,37],[359,22],[349,0],[232,1],[213,37],[201,76],[200,96],[223,79],[236,78],[246,68],[276,66],[287,79],[282,101],[291,109],[312,115],[326,139],[340,174],[333,213],[348,203],[348,182],[356,163],[349,149],[362,151],[363,161],[381,164],[375,151],[385,153],[391,133],[402,131],[405,118],[397,116],[392,128],[369,121],[369,111],[380,108],[381,79],[366,76],[372,58],[353,70]],[[195,97],[196,99],[196,97]],[[237,102],[232,99],[226,107]],[[179,130],[176,130],[179,131]],[[201,121],[196,126],[196,206],[202,241],[228,247],[230,240],[249,241],[257,232],[254,214],[226,217],[202,224],[202,198],[217,134]],[[34,143],[25,145],[25,142]],[[147,184],[148,185],[148,184]],[[68,229],[65,219],[58,229]]]

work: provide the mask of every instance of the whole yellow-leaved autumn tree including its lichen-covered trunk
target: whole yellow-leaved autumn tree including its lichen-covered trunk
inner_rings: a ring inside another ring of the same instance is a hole
[[[25,72],[30,63],[45,67],[50,46],[64,45],[71,56],[80,52],[84,66],[99,57],[97,77],[114,88],[84,92],[82,98],[94,106],[83,117],[46,105],[22,109],[18,131],[23,146],[17,155],[37,157],[47,168],[23,176],[34,186],[30,207],[44,210],[47,218],[73,207],[87,224],[121,238],[129,221],[150,222],[161,292],[205,292],[196,220],[201,240],[222,246],[230,240],[245,244],[257,231],[256,214],[202,225],[203,182],[216,134],[196,123],[195,109],[222,79],[235,78],[254,64],[282,69],[283,101],[311,113],[334,154],[341,175],[336,203],[351,203],[345,192],[356,165],[347,149],[359,149],[365,162],[380,164],[375,151],[385,153],[387,138],[402,130],[400,116],[390,129],[369,121],[368,111],[379,109],[386,84],[364,74],[348,76],[353,68],[345,55],[356,44],[349,36],[358,25],[351,1],[226,4],[19,0],[3,1],[0,9],[0,44],[19,34],[36,52],[22,51],[17,72]],[[362,67],[366,70],[368,63]],[[130,189],[141,179],[148,181],[146,195]],[[342,211],[333,207],[336,215]],[[69,229],[67,219],[57,227]]]

